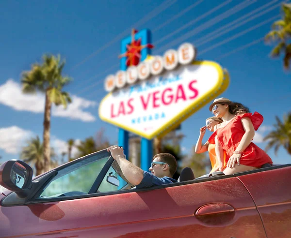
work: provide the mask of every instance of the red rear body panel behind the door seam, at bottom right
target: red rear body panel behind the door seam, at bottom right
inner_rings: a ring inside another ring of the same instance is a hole
[[[268,237],[291,237],[291,167],[238,177],[253,197]]]

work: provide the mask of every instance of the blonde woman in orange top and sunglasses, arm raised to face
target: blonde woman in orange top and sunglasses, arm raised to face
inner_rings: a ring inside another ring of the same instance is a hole
[[[217,160],[216,154],[215,154],[215,145],[210,144],[208,141],[202,145],[202,139],[203,136],[206,132],[206,128],[210,131],[213,132],[214,130],[214,126],[216,126],[219,123],[222,123],[223,120],[217,117],[211,117],[206,119],[206,126],[201,127],[200,128],[200,135],[199,138],[197,140],[196,146],[195,146],[195,153],[200,154],[200,153],[204,153],[208,150],[209,152],[209,158],[210,158],[210,162],[211,162],[211,171],[210,174],[212,172],[218,171],[219,170],[219,161]],[[226,165],[226,164],[224,164]]]

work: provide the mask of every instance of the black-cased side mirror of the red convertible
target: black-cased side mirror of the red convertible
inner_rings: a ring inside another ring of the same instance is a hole
[[[0,166],[0,185],[26,197],[32,185],[32,167],[21,160],[9,160]]]

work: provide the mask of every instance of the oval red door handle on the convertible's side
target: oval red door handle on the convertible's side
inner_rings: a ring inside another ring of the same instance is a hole
[[[230,222],[235,215],[235,209],[226,203],[212,203],[203,205],[195,212],[195,217],[203,222],[212,225],[219,225]]]

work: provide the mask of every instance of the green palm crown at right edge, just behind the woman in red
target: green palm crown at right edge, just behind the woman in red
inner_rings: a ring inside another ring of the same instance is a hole
[[[266,151],[272,147],[277,155],[278,149],[283,146],[289,154],[291,154],[291,112],[283,117],[283,122],[276,117],[275,130],[271,131],[264,137],[264,141],[268,141]]]

